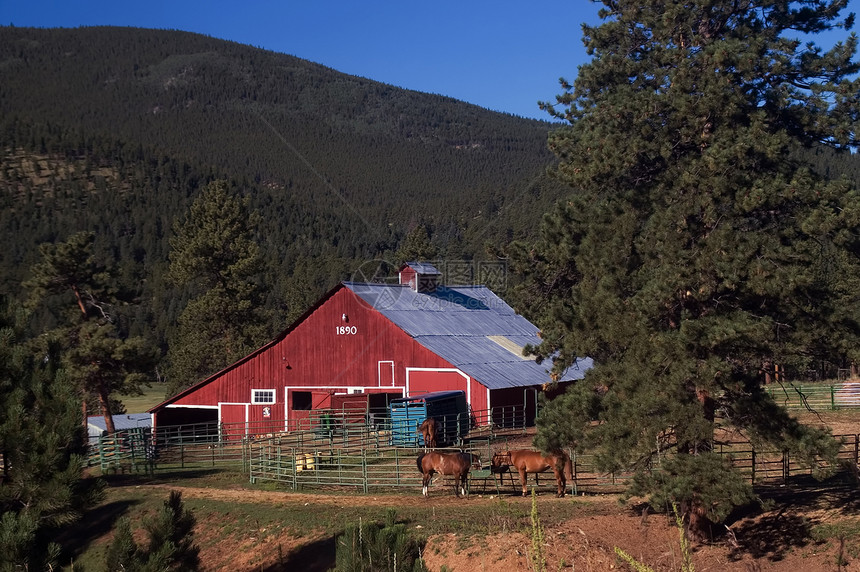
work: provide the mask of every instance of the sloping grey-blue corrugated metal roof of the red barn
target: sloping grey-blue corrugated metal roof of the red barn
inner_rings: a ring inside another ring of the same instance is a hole
[[[415,341],[489,389],[540,385],[550,363],[538,364],[522,348],[540,343],[538,328],[486,286],[440,286],[415,292],[403,285],[344,282]],[[561,381],[582,379],[592,366],[582,358]]]

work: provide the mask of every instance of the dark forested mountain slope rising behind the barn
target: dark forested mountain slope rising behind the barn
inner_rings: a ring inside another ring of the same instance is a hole
[[[564,192],[549,123],[178,31],[0,28],[0,279],[79,230],[163,339],[186,293],[162,275],[195,192],[232,181],[260,211],[283,327],[416,224],[440,254],[527,235]]]

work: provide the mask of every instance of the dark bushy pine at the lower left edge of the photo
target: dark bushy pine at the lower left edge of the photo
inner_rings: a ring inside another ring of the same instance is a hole
[[[5,309],[4,309],[5,310]],[[56,533],[101,498],[86,479],[77,390],[60,369],[60,344],[24,337],[0,316],[0,569],[57,567]]]

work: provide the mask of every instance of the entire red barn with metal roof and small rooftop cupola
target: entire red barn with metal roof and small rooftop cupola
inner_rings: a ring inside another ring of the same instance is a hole
[[[522,355],[540,341],[537,328],[488,288],[442,286],[439,276],[409,263],[399,284],[341,283],[270,343],[152,408],[153,425],[281,431],[356,393],[384,407],[392,396],[462,390],[473,413],[529,399],[533,411],[532,390],[550,381]],[[561,381],[589,367],[579,360]]]

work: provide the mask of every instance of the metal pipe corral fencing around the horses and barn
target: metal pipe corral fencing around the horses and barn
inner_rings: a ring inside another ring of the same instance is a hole
[[[489,413],[489,412],[488,412]],[[252,482],[278,482],[293,490],[300,488],[353,487],[362,492],[397,487],[418,487],[420,476],[416,459],[423,448],[391,445],[391,428],[383,423],[359,424],[333,414],[328,426],[314,430],[254,435],[244,439],[223,439],[217,424],[159,428],[155,436],[145,428],[135,428],[112,438],[103,437],[92,451],[90,461],[103,472],[165,472],[179,469],[234,467],[249,475]],[[492,474],[492,454],[508,448],[506,440],[526,434],[526,426],[514,422],[490,423],[473,427],[459,439],[456,449],[480,455],[482,470],[473,470],[472,488],[483,491],[518,491],[516,473]],[[456,421],[456,420],[455,420]],[[839,459],[855,471],[860,466],[860,435],[838,435]],[[787,483],[790,478],[809,475],[811,469],[782,451],[756,449],[749,442],[714,444],[714,450],[727,455],[752,484]],[[593,455],[570,452],[573,476],[570,492],[618,493],[628,485],[631,475],[606,474],[595,467]],[[538,479],[529,476],[529,486]],[[540,486],[554,490],[551,473],[539,477]],[[437,480],[438,482],[438,480]]]

